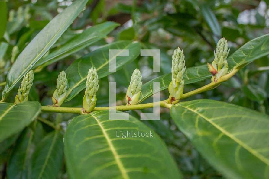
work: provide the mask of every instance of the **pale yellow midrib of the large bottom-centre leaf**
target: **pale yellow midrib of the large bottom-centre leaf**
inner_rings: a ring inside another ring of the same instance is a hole
[[[91,114],[91,115],[92,115],[92,114]],[[116,163],[117,163],[117,165],[118,165],[118,168],[120,169],[120,172],[122,173],[122,177],[123,177],[124,179],[130,179],[130,177],[128,176],[128,174],[127,174],[127,172],[126,172],[126,170],[125,170],[125,168],[124,168],[124,166],[123,166],[123,164],[122,164],[122,161],[121,161],[120,158],[119,158],[119,155],[118,155],[118,153],[117,153],[117,151],[116,151],[114,145],[112,144],[112,142],[111,142],[109,136],[108,136],[107,133],[105,132],[105,129],[103,128],[102,124],[99,122],[99,120],[98,120],[95,116],[92,115],[92,117],[97,121],[98,125],[100,126],[100,128],[101,128],[101,130],[102,130],[102,132],[103,132],[103,134],[104,134],[104,136],[105,136],[105,139],[107,140],[107,143],[108,143],[108,145],[109,145],[109,148],[110,148],[111,152],[112,152],[113,155],[114,155],[114,158],[115,158],[115,160],[116,160]]]

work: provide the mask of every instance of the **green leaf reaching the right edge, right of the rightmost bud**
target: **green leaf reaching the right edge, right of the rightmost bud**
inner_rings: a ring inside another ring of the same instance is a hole
[[[235,67],[245,66],[248,63],[269,54],[269,34],[255,38],[241,46],[227,58],[229,64],[228,72]]]

